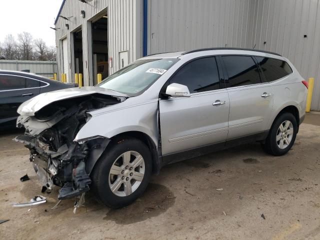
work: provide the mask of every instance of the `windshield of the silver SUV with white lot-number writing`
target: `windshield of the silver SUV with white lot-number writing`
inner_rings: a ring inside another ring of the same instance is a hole
[[[145,91],[178,60],[178,58],[137,60],[108,76],[96,86],[135,96]]]

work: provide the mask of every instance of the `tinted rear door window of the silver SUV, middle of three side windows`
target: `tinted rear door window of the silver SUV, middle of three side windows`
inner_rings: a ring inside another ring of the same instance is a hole
[[[228,87],[261,83],[258,68],[251,56],[222,56]]]

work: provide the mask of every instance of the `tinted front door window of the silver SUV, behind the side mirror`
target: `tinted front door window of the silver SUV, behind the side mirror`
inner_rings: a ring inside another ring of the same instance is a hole
[[[169,80],[169,84],[171,83],[186,85],[190,93],[219,89],[215,58],[199,58],[185,64]]]

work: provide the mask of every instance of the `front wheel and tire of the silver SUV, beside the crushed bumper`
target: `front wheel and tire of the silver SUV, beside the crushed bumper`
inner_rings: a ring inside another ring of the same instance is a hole
[[[91,174],[92,189],[111,208],[126,206],[145,190],[152,171],[149,148],[135,138],[108,146]]]

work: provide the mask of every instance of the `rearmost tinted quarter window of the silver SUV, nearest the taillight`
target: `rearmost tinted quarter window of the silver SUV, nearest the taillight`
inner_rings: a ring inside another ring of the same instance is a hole
[[[255,58],[260,64],[266,81],[274,81],[292,73],[291,67],[285,61],[260,56],[256,56]]]

